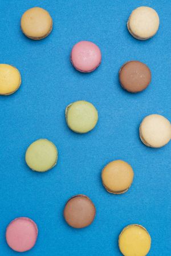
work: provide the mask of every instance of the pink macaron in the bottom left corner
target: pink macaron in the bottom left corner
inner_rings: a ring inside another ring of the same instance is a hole
[[[6,229],[7,244],[19,253],[34,247],[37,237],[38,227],[30,218],[16,218],[10,222]]]

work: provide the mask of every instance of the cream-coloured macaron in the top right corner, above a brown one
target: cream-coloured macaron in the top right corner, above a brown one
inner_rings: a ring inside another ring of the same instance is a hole
[[[160,19],[154,9],[141,6],[132,11],[127,27],[133,37],[146,40],[156,34],[159,23]]]

